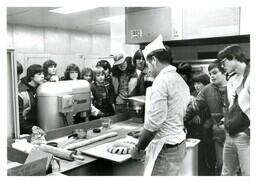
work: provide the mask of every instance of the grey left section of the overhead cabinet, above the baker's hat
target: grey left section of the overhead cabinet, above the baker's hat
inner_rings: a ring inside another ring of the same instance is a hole
[[[146,43],[162,34],[163,40],[171,40],[171,9],[151,8],[132,11],[126,9],[126,43]]]

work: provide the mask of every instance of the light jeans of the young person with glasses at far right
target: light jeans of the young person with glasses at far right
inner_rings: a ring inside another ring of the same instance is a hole
[[[241,168],[242,176],[250,175],[250,136],[245,132],[232,137],[226,133],[221,175],[234,176],[239,168]]]

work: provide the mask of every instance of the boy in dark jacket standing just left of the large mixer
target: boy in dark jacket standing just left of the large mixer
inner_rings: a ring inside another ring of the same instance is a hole
[[[19,97],[22,99],[22,120],[20,120],[20,133],[31,134],[32,127],[37,123],[36,89],[44,83],[44,73],[41,65],[33,64],[28,67],[26,78],[18,85]]]

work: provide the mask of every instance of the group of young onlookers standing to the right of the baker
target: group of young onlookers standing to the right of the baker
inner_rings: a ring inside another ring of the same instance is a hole
[[[189,70],[182,67],[180,74]],[[194,91],[183,120],[187,137],[200,139],[199,175],[249,175],[250,61],[240,46],[227,46],[208,73],[190,80]],[[236,100],[238,109],[231,113]]]

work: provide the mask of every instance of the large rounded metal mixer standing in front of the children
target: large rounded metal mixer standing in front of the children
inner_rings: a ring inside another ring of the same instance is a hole
[[[77,117],[88,119],[90,84],[86,80],[47,82],[37,89],[39,126],[45,131],[72,125]]]

